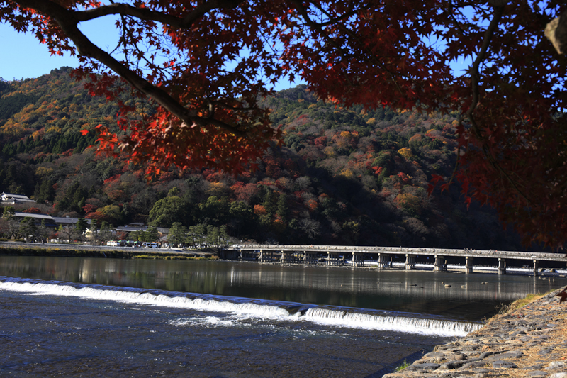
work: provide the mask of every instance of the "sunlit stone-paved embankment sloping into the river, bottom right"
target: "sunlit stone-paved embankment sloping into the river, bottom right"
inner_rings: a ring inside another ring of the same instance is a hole
[[[385,378],[567,378],[567,302],[560,290],[493,318],[480,330],[437,345]]]

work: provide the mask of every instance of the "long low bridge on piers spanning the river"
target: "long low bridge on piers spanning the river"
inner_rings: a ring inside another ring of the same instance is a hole
[[[513,252],[498,250],[456,250],[440,248],[393,248],[358,247],[342,245],[272,245],[246,244],[230,245],[220,251],[220,257],[228,260],[249,260],[259,262],[280,262],[281,264],[344,265],[350,260],[352,266],[364,266],[364,262],[376,262],[379,268],[391,267],[394,255],[405,255],[405,269],[415,269],[417,256],[434,257],[434,270],[447,270],[447,257],[464,259],[466,273],[473,272],[473,260],[488,258],[497,260],[498,274],[506,274],[507,260],[527,260],[533,267],[534,275],[539,271],[539,262],[554,261],[567,263],[565,253]]]

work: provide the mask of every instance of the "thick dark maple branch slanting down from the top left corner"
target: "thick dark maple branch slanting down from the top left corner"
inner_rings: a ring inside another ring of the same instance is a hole
[[[135,89],[150,96],[154,99],[159,105],[163,106],[164,109],[172,113],[174,116],[179,118],[181,121],[186,123],[188,126],[196,124],[198,126],[206,126],[207,124],[212,124],[219,128],[223,128],[228,132],[243,137],[245,133],[238,130],[234,126],[230,126],[227,123],[223,123],[218,120],[213,120],[210,118],[203,118],[197,116],[196,111],[188,111],[185,109],[184,106],[179,104],[178,101],[169,96],[169,94],[161,88],[155,87],[147,80],[143,79],[142,77],[135,74],[128,70],[123,64],[118,62],[118,60],[114,59],[112,55],[108,54],[108,52],[102,50],[97,45],[92,43],[89,38],[86,38],[81,30],[77,27],[79,21],[75,17],[75,11],[69,11],[64,7],[56,4],[53,1],[46,1],[46,0],[13,0],[16,4],[30,9],[35,9],[41,13],[44,13],[48,17],[50,17],[53,21],[55,21],[63,32],[67,35],[67,37],[73,41],[75,46],[77,47],[77,52],[79,55],[84,55],[86,57],[91,57],[99,62],[106,65],[106,67],[110,68],[120,77],[123,77],[127,82],[133,85]]]

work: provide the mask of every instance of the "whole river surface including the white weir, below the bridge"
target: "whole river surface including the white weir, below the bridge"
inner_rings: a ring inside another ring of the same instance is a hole
[[[0,257],[0,377],[381,377],[566,279]],[[446,285],[450,285],[447,287]]]

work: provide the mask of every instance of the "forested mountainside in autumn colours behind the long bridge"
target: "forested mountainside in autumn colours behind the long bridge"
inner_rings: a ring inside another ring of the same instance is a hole
[[[264,105],[285,138],[253,172],[172,167],[147,181],[143,167],[89,148],[94,127],[113,126],[117,108],[91,98],[69,68],[0,82],[0,191],[26,194],[54,216],[227,225],[239,240],[524,249],[494,211],[467,209],[456,187],[427,195],[432,174],[454,169],[455,118],[343,109],[301,86]]]

